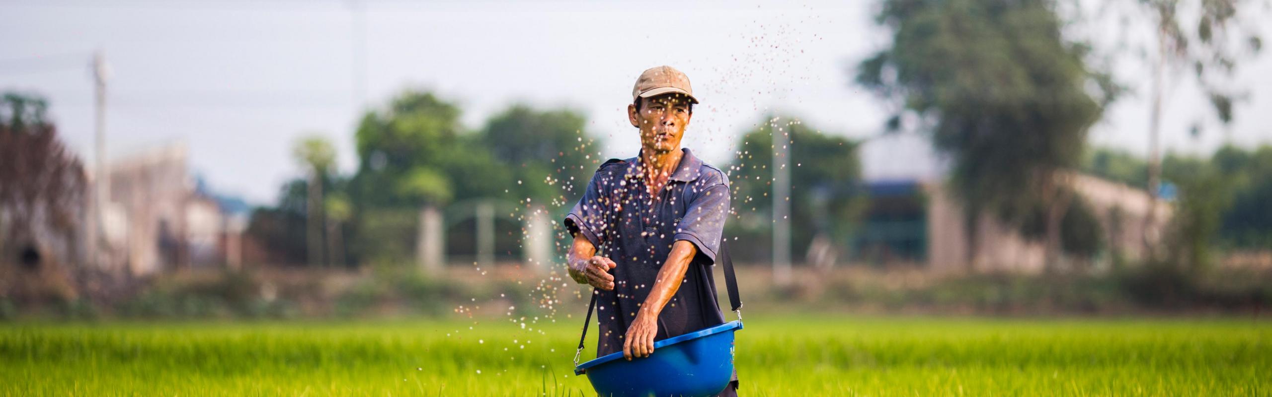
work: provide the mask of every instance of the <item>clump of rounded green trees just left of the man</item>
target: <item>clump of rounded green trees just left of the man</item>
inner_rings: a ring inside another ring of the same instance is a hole
[[[459,115],[458,106],[432,93],[406,92],[388,109],[363,117],[350,195],[360,214],[359,253],[398,261],[392,256],[413,252],[415,239],[371,238],[389,233],[384,228],[415,235],[416,225],[399,219],[404,209],[499,197],[563,202],[563,192],[583,186],[599,163],[586,153],[593,139],[577,112],[514,104],[472,132],[464,132]]]

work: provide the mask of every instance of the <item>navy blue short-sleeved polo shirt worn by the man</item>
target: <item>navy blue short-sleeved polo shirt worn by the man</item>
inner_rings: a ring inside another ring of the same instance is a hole
[[[729,178],[689,149],[682,150],[681,163],[656,197],[645,188],[639,155],[605,162],[565,218],[571,234],[583,234],[598,247],[597,254],[617,265],[611,270],[614,289],[598,290],[598,358],[623,350],[627,327],[677,240],[693,243],[698,253],[658,316],[655,340],[724,323],[711,266],[729,216]]]

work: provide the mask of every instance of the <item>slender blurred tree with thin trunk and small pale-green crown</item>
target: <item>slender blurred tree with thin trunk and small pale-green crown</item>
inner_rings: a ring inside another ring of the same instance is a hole
[[[296,141],[293,157],[309,174],[308,200],[305,209],[305,240],[309,251],[309,265],[324,266],[323,261],[323,181],[336,164],[336,148],[321,135],[310,135]]]

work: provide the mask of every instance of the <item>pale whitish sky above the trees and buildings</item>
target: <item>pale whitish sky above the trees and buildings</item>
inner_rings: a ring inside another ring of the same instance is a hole
[[[480,129],[514,103],[567,107],[604,139],[602,155],[639,149],[626,120],[646,67],[684,71],[702,102],[684,146],[722,165],[734,140],[770,115],[827,134],[875,136],[887,103],[851,83],[852,67],[888,45],[875,1],[0,1],[0,90],[37,93],[66,143],[92,164],[95,51],[109,65],[107,151],[126,157],[167,144],[190,149],[212,190],[256,205],[301,176],[293,144],[323,135],[343,173],[356,169],[354,130],[369,108],[404,89],[457,102]],[[361,9],[359,18],[357,9]],[[361,20],[361,24],[357,23]],[[1123,24],[1124,22],[1113,22]],[[1108,24],[1108,23],[1105,23]],[[363,27],[365,29],[359,29]],[[359,34],[363,32],[363,34]],[[1090,132],[1095,145],[1147,153],[1144,62],[1112,45],[1116,27],[1084,31],[1123,84]],[[357,39],[363,37],[365,39]],[[365,46],[357,46],[365,43]],[[361,48],[361,50],[359,50]],[[359,56],[361,53],[363,56]],[[1168,75],[1164,150],[1208,154],[1224,143],[1272,144],[1272,61],[1243,64],[1247,99],[1220,127],[1187,74]],[[1189,134],[1201,122],[1203,132]],[[930,162],[917,137],[864,155],[868,173]],[[883,151],[883,153],[880,153]],[[898,171],[901,169],[901,171]]]

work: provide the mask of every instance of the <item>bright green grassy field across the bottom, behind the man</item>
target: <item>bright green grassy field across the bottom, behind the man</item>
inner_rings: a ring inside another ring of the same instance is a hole
[[[1266,321],[748,314],[743,396],[1272,394]],[[0,394],[590,396],[576,322],[0,324]]]

